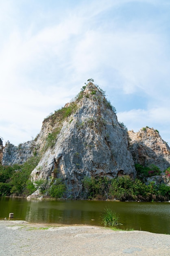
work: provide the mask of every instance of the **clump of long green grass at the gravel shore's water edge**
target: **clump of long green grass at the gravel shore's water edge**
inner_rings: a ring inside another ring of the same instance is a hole
[[[105,209],[105,213],[102,215],[101,223],[104,224],[105,227],[122,225],[119,222],[119,215],[112,211],[110,208]]]

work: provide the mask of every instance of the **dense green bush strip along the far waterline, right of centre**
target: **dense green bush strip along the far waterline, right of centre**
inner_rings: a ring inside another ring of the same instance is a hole
[[[141,180],[132,180],[124,175],[114,179],[107,177],[85,177],[83,179],[84,196],[88,199],[106,200],[116,198],[120,201],[168,201],[170,187],[165,184],[156,185],[150,182],[148,186]]]

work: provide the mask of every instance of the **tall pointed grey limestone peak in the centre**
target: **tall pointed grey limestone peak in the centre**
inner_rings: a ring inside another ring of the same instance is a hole
[[[32,172],[33,180],[64,179],[68,198],[81,197],[85,176],[136,175],[126,129],[92,83],[74,103],[44,120],[37,144],[44,138],[45,152]]]

